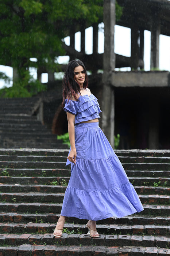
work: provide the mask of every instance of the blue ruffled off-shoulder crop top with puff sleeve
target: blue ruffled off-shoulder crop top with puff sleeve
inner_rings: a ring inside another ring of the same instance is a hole
[[[97,98],[93,94],[80,95],[77,101],[65,99],[63,109],[75,115],[75,124],[100,118],[101,112]]]

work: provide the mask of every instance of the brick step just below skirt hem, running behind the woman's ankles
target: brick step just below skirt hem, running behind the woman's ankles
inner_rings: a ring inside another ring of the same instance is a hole
[[[96,221],[97,225],[138,225],[138,226],[170,226],[170,217],[146,217],[139,214],[132,214],[130,216],[122,218],[107,218],[100,221]],[[0,222],[8,223],[57,223],[60,214],[37,214],[37,213],[16,213],[16,212],[0,212]],[[78,219],[74,217],[67,217],[67,223],[77,223],[80,225],[86,225],[86,219]],[[107,224],[106,224],[107,223]],[[170,231],[169,231],[170,232]]]

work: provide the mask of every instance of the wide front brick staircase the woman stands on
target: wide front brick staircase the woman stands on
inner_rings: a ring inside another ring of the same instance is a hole
[[[69,217],[53,236],[70,177],[68,150],[0,149],[0,256],[170,255],[170,150],[117,150],[144,211],[97,222]]]

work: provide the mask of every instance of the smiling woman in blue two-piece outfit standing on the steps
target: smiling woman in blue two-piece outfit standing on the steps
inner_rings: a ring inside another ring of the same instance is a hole
[[[96,238],[96,221],[143,210],[123,166],[98,127],[101,110],[87,86],[82,61],[70,61],[63,77],[62,106],[68,120],[71,147],[66,165],[71,163],[71,177],[55,237],[62,236],[65,217],[89,219],[86,227],[90,236]]]

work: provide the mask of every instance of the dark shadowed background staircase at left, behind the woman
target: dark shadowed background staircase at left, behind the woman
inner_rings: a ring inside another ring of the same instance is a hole
[[[38,102],[32,98],[0,98],[1,148],[65,148],[57,135],[32,116]]]

